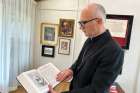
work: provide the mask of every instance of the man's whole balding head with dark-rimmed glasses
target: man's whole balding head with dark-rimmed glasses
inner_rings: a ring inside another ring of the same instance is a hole
[[[96,37],[105,32],[106,14],[102,5],[90,3],[82,9],[80,28],[87,37]]]

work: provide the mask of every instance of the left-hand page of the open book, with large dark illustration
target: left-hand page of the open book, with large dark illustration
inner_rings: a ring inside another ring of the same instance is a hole
[[[48,82],[36,70],[23,72],[17,77],[28,93],[47,93]]]

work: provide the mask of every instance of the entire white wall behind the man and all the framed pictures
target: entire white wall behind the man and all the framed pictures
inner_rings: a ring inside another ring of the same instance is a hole
[[[79,19],[79,10],[88,2],[97,2],[102,4],[109,14],[134,15],[130,49],[125,51],[124,66],[122,75],[117,82],[125,90],[125,93],[140,93],[140,1],[138,0],[46,0],[39,2],[37,13],[37,30],[35,35],[34,62],[36,66],[52,62],[58,68],[64,69],[69,67],[77,58],[81,46],[85,40],[85,36],[80,32],[78,25],[75,24],[74,37],[70,38],[71,52],[70,55],[58,54],[58,45],[56,46],[55,58],[47,58],[41,56],[40,44],[40,23],[50,22],[59,24],[60,18]],[[136,92],[137,91],[137,92]]]

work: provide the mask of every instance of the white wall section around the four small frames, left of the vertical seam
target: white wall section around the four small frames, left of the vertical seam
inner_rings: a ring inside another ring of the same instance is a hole
[[[56,66],[58,66],[59,69],[64,69],[69,67],[73,63],[75,33],[73,38],[69,38],[71,39],[70,55],[58,54],[58,45],[59,45],[58,42],[58,44],[55,46],[56,49],[55,49],[54,58],[42,57],[41,44],[40,44],[40,24],[42,22],[59,24],[60,18],[74,19],[75,20],[74,32],[75,32],[77,27],[76,19],[78,16],[78,10],[77,10],[78,3],[79,3],[78,0],[59,0],[59,1],[46,0],[46,1],[39,2],[37,7],[38,13],[36,16],[37,31],[36,31],[35,42],[34,42],[35,44],[34,62],[36,67],[48,62],[52,62]]]

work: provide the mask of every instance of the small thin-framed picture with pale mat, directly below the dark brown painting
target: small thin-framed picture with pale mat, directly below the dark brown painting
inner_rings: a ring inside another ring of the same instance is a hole
[[[60,38],[59,39],[59,54],[69,55],[70,54],[70,39]]]

